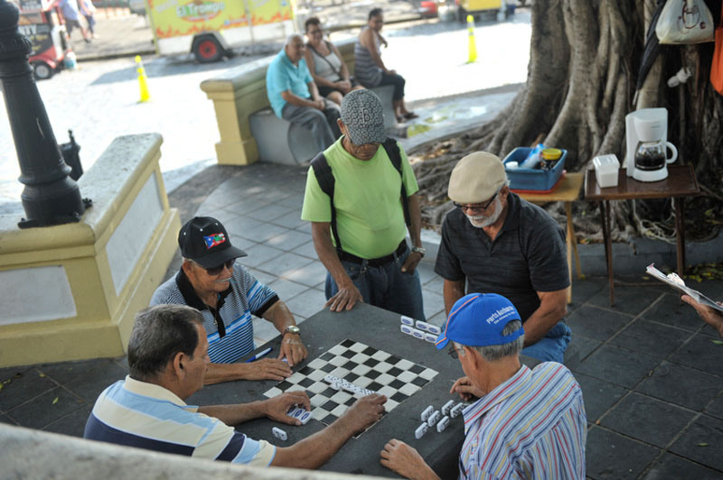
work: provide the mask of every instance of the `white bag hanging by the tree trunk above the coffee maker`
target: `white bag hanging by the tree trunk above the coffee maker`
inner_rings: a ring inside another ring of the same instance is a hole
[[[655,26],[662,44],[713,42],[715,23],[703,0],[667,0]]]

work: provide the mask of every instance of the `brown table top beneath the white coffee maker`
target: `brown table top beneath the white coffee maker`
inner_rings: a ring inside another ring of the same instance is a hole
[[[617,172],[617,186],[601,189],[594,170],[585,172],[586,200],[627,200],[634,198],[695,197],[700,194],[692,165],[669,165],[668,178],[659,181],[638,181],[627,176],[625,169]]]

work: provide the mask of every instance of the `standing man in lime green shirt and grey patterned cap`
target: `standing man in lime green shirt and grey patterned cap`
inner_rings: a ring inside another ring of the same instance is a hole
[[[326,306],[342,311],[364,301],[424,319],[417,265],[425,250],[407,155],[387,139],[380,99],[370,90],[343,97],[338,122],[343,136],[312,162],[301,213],[328,271]]]

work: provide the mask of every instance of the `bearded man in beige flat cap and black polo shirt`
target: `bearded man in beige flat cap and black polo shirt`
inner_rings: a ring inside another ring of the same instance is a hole
[[[562,363],[570,341],[565,232],[508,185],[502,161],[489,152],[467,155],[452,171],[455,209],[442,225],[435,265],[445,279],[446,313],[466,292],[500,294],[520,312],[522,354]]]

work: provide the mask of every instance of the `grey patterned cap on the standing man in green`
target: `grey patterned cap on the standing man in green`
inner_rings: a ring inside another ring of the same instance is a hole
[[[355,145],[382,143],[387,139],[381,101],[371,90],[354,90],[343,97],[342,122]]]

